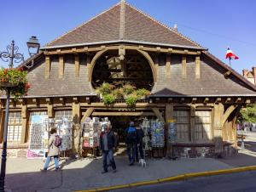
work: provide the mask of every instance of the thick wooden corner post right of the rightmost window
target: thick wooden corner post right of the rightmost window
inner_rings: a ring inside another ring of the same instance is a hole
[[[223,153],[222,119],[224,116],[224,104],[214,104],[213,107],[213,137],[215,154],[221,156]]]

